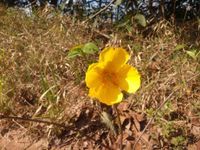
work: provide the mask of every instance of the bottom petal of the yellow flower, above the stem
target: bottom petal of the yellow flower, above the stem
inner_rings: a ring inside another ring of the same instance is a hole
[[[97,98],[106,105],[119,103],[123,98],[120,89],[111,83],[103,84],[97,88],[91,88],[89,96]]]

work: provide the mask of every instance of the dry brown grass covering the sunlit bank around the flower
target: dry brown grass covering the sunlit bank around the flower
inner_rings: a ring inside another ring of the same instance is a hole
[[[128,49],[130,63],[142,74],[140,90],[125,94],[127,98],[119,106],[126,128],[124,144],[131,148],[154,117],[137,147],[194,149],[200,140],[200,55],[193,59],[187,51],[200,49],[197,22],[175,28],[161,21],[132,33],[105,25],[106,29],[96,32],[98,29],[78,20],[50,14],[38,11],[28,18],[0,7],[0,114],[53,121],[66,128],[30,120],[0,120],[2,139],[13,130],[24,129],[23,136],[30,135],[32,141],[45,138],[52,149],[117,145],[84,84],[88,60],[95,61],[98,54],[67,59],[71,47],[94,41],[100,48],[118,45]]]

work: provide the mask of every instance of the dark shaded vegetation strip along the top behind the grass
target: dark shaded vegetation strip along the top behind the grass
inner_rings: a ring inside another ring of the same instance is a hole
[[[27,15],[32,15],[37,7],[48,5],[80,18],[91,16],[107,6],[98,15],[104,21],[119,21],[137,13],[148,20],[163,17],[188,20],[200,16],[199,0],[3,0],[2,3],[23,8]]]

